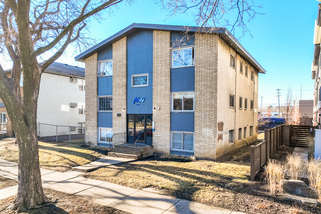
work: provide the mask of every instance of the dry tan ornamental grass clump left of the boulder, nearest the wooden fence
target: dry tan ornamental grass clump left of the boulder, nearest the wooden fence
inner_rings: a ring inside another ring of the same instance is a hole
[[[275,196],[277,192],[283,192],[281,180],[284,179],[284,168],[282,165],[269,159],[262,176],[264,176],[264,180],[267,182],[271,195]]]

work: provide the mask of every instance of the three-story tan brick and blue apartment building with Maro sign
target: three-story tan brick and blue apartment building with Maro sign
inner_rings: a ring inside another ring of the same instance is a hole
[[[182,26],[134,23],[75,57],[85,62],[87,141],[109,146],[126,133],[129,147],[216,159],[257,139],[265,70],[228,30],[189,30],[186,42]]]

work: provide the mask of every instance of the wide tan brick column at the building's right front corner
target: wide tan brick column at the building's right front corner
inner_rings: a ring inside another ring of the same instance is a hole
[[[195,130],[194,155],[216,156],[217,49],[216,35],[195,35]]]

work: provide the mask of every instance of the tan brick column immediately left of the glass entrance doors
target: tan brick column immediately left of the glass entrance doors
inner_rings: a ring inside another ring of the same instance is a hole
[[[117,117],[117,113],[121,116]],[[124,37],[113,44],[113,133],[126,133],[126,121],[127,38]]]

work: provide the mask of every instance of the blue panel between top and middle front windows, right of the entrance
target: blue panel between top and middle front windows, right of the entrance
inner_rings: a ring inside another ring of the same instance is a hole
[[[195,67],[170,69],[171,92],[195,90]]]

